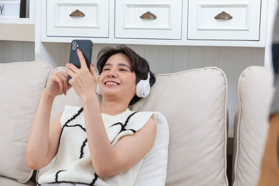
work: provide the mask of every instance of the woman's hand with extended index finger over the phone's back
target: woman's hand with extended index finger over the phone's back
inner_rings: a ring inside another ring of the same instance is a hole
[[[96,96],[98,76],[96,75],[93,62],[91,62],[89,71],[80,49],[77,49],[77,56],[80,59],[81,68],[77,68],[72,63],[66,63],[66,73],[72,77],[69,83],[73,86],[75,92],[80,96],[82,101],[89,100],[93,96]]]

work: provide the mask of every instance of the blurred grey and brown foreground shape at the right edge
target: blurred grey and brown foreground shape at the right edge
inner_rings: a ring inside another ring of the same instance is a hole
[[[272,61],[274,94],[269,113],[269,134],[262,158],[258,186],[279,185],[279,12],[277,8],[273,27]]]

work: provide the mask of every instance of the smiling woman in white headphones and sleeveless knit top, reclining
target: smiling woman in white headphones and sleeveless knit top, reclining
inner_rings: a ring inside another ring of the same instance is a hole
[[[157,125],[153,112],[130,111],[128,106],[146,97],[146,84],[152,86],[156,78],[147,61],[125,45],[99,52],[99,79],[93,63],[89,70],[82,52],[77,55],[81,68],[67,63],[66,72],[54,73],[41,95],[26,163],[38,170],[56,157],[38,185],[133,185],[156,140]],[[83,107],[67,105],[49,125],[54,98],[71,88],[68,75]]]

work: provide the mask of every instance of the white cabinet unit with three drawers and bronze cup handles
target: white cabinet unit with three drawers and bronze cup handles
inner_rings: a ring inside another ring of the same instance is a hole
[[[267,1],[43,0],[40,41],[265,47]]]

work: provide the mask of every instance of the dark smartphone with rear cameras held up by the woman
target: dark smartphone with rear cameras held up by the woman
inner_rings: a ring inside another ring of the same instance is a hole
[[[90,70],[90,65],[91,65],[91,56],[92,56],[92,47],[93,47],[93,43],[91,40],[73,40],[72,42],[70,42],[70,59],[69,59],[69,63],[73,63],[77,68],[80,68],[80,59],[77,56],[77,49],[80,49],[80,51],[82,51],[82,54],[84,56],[84,59],[86,61],[86,65],[88,67],[88,69]],[[72,77],[70,77],[70,75],[68,75],[67,77],[67,83],[68,85],[71,86],[71,84],[69,83],[69,80]]]

